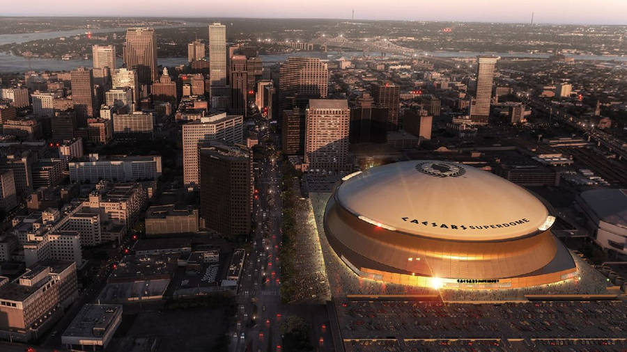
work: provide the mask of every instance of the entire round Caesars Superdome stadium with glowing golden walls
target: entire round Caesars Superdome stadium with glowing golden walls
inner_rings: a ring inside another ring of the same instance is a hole
[[[543,203],[471,166],[405,161],[344,177],[325,234],[357,275],[404,285],[505,289],[573,278]]]

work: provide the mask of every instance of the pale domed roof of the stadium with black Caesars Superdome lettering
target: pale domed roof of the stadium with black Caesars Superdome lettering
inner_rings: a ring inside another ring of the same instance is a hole
[[[504,241],[552,223],[522,187],[447,161],[404,161],[345,177],[336,200],[363,221],[434,239]]]

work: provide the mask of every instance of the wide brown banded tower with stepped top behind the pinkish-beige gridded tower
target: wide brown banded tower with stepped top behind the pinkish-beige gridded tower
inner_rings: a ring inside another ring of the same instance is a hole
[[[303,108],[309,99],[327,97],[329,71],[319,58],[290,57],[279,71],[279,111]]]

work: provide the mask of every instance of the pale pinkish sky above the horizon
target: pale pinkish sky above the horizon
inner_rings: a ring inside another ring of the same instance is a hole
[[[5,0],[2,0],[5,1]],[[5,16],[401,19],[627,24],[627,0],[21,0]]]

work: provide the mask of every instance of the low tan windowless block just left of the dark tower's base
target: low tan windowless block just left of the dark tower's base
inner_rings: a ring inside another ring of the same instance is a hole
[[[157,205],[146,210],[146,236],[198,232],[198,209]]]

